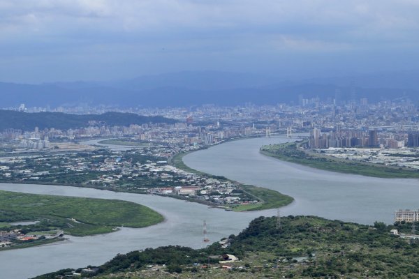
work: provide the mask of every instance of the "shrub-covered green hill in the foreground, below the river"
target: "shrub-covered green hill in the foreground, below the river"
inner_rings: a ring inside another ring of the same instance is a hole
[[[418,239],[404,239],[390,229],[409,233],[411,225],[260,217],[237,236],[207,248],[147,248],[119,254],[101,266],[36,278],[419,278]]]

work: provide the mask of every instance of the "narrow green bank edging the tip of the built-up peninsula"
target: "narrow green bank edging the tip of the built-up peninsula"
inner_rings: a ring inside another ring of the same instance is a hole
[[[195,173],[195,174],[199,174],[203,176],[209,176],[215,179],[220,179],[221,181],[230,181],[229,179],[226,179],[226,177],[224,176],[214,176],[212,174],[200,172],[196,169],[188,167],[182,159],[184,156],[186,156],[189,153],[191,152],[177,153],[175,154],[175,156],[172,156],[172,158],[170,158],[169,163],[173,165],[174,167],[183,169],[186,172],[191,172],[191,173]],[[240,186],[240,188],[242,188],[242,190],[245,193],[247,193],[248,195],[258,200],[257,204],[240,204],[238,206],[234,206],[233,211],[255,211],[255,210],[263,210],[263,209],[276,209],[278,207],[291,204],[291,202],[294,201],[293,197],[281,194],[275,190],[262,188],[262,187],[256,187],[253,185],[245,185],[237,181],[231,181],[231,182],[236,183],[237,185]]]

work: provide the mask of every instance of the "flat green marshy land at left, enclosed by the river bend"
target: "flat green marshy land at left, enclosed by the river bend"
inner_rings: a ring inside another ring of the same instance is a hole
[[[163,221],[146,206],[115,199],[13,193],[0,190],[0,221],[50,220],[66,234],[86,236],[114,227],[147,227]],[[52,227],[50,229],[53,229]]]

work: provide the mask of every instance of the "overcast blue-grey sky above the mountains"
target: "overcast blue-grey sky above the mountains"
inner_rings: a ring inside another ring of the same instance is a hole
[[[419,0],[0,0],[0,81],[419,68]]]

